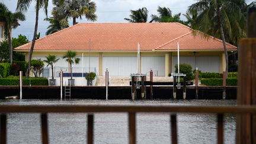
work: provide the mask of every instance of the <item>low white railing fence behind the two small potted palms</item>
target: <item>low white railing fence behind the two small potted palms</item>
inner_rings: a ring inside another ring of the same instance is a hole
[[[55,66],[53,68],[53,76],[57,77],[59,76],[59,72],[63,71],[64,77],[70,77],[71,76],[71,68],[69,67],[59,67]],[[95,72],[97,73],[97,70],[95,67],[72,67],[72,76],[73,77],[85,77],[85,73],[88,72]],[[52,68],[51,67],[45,67],[43,68],[43,73],[41,75],[42,77],[49,78],[52,77]]]

